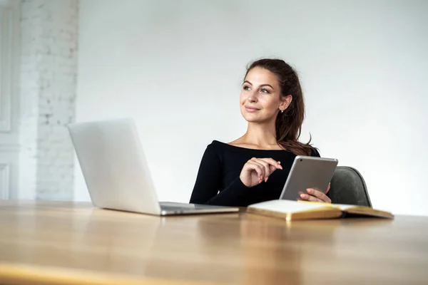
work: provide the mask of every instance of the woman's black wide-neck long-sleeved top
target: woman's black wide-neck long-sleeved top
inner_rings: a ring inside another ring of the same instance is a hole
[[[312,156],[320,157],[320,153],[314,149]],[[267,182],[246,187],[239,176],[253,157],[280,161],[282,170],[272,172]],[[255,150],[214,140],[203,154],[190,203],[247,207],[279,199],[295,157],[287,150]]]

